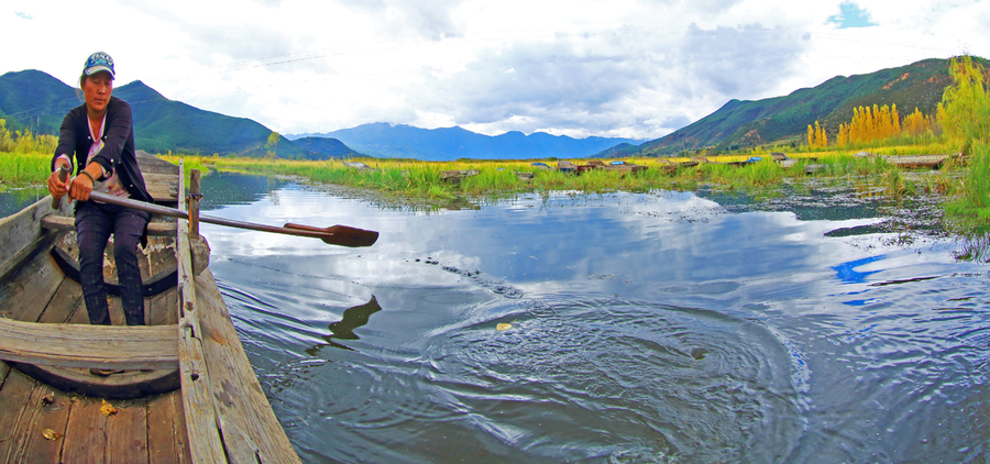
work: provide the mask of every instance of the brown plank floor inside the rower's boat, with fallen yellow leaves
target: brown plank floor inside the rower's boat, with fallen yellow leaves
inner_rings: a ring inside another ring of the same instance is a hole
[[[154,246],[150,244],[148,250],[155,250]],[[161,243],[157,247],[165,248]],[[150,258],[145,256],[142,274],[161,270],[168,264],[164,257],[169,252],[165,250],[162,259],[156,259],[155,253],[150,253]],[[43,323],[89,323],[79,284],[65,278],[47,253],[38,254],[12,278],[0,283],[0,301],[4,302],[0,317]],[[146,322],[177,323],[177,305],[175,290],[146,298]],[[123,324],[117,297],[110,298],[110,318],[114,324]],[[84,372],[74,371],[79,375]],[[106,382],[97,382],[101,380]],[[124,380],[121,377],[109,382]],[[6,411],[0,415],[0,463],[191,462],[180,390],[111,400],[116,410],[112,415],[101,410],[103,401],[103,397],[58,389],[12,368],[10,363],[0,363],[0,408]]]

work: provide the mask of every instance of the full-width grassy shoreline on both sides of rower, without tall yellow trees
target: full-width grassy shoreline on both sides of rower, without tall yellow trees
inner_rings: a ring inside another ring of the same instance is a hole
[[[887,163],[881,156],[856,157],[856,153],[867,150],[878,155],[911,155],[950,153],[954,147],[944,143],[905,144],[875,146],[851,150],[820,150],[788,153],[796,159],[794,166],[785,168],[762,152],[750,152],[730,156],[708,156],[713,164],[679,167],[673,172],[663,169],[671,163],[689,162],[691,158],[625,158],[631,164],[647,166],[635,175],[593,170],[580,176],[557,169],[534,166],[540,162],[556,166],[556,158],[527,161],[461,159],[455,162],[421,162],[415,159],[353,158],[348,163],[363,163],[369,169],[356,169],[341,159],[287,161],[272,158],[244,158],[190,155],[158,155],[160,158],[177,164],[179,159],[186,170],[210,169],[239,170],[260,175],[283,175],[304,178],[318,185],[334,185],[365,191],[369,196],[385,197],[392,201],[418,206],[438,206],[455,198],[469,200],[492,200],[524,192],[575,191],[601,194],[609,191],[696,190],[701,187],[740,190],[762,194],[779,188],[782,184],[798,184],[806,179],[816,181],[844,181],[856,179],[883,187],[887,195],[899,200],[911,195],[935,194],[949,200],[945,203],[949,225],[954,229],[990,228],[990,150],[987,144],[977,143],[970,150],[968,166],[948,163],[942,169],[925,176],[912,176]],[[734,167],[724,163],[761,157],[760,162]],[[22,188],[29,185],[44,185],[48,175],[51,155],[43,153],[0,153],[0,191]],[[587,159],[571,159],[584,164]],[[806,175],[809,164],[824,166],[813,175]],[[441,179],[444,170],[476,169],[477,175],[460,183]],[[531,173],[531,181],[519,179],[515,173]]]

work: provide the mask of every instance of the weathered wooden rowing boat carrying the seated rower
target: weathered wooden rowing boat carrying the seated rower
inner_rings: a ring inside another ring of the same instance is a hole
[[[185,198],[180,169],[140,164],[156,200]],[[45,198],[0,220],[0,462],[299,462],[209,268],[195,273],[189,221],[148,227],[146,285],[174,279],[146,296],[148,325],[118,325],[111,297],[116,325],[96,327],[58,265],[76,253],[70,216]]]

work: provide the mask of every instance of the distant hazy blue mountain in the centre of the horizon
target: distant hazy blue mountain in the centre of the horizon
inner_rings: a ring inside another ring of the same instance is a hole
[[[365,155],[422,161],[582,158],[594,156],[619,144],[638,145],[644,142],[608,137],[572,139],[543,132],[530,135],[507,132],[491,136],[457,126],[420,129],[386,123],[363,124],[323,134],[298,134],[286,137],[289,140],[332,137]]]

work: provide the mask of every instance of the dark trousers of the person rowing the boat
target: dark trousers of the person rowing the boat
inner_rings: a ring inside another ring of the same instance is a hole
[[[120,299],[128,325],[144,325],[144,286],[138,267],[138,242],[150,214],[116,205],[81,202],[76,210],[79,241],[79,280],[89,323],[110,325],[107,287],[103,284],[103,251],[113,233],[113,258]]]

